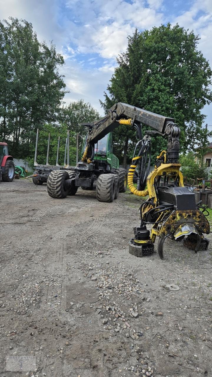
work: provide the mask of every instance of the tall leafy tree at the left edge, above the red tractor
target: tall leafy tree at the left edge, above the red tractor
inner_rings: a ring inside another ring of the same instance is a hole
[[[0,137],[23,158],[36,128],[60,118],[64,60],[54,44],[38,42],[31,23],[9,20],[0,22]]]

